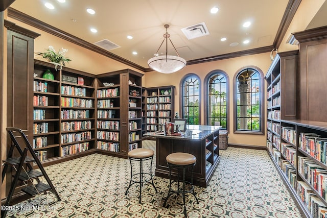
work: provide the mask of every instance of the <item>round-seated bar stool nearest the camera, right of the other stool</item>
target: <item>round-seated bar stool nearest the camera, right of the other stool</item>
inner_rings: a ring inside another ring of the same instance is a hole
[[[167,203],[168,198],[174,193],[181,193],[183,196],[183,205],[184,205],[184,215],[186,215],[186,205],[185,205],[185,193],[192,193],[196,199],[197,204],[199,204],[198,198],[195,195],[194,185],[193,185],[193,167],[196,164],[196,157],[189,153],[176,152],[169,154],[166,157],[167,164],[169,167],[169,191],[167,198],[164,202],[164,206]],[[172,168],[178,169],[177,180],[172,181]],[[185,180],[186,169],[191,168],[191,182]],[[180,170],[182,169],[182,180],[179,180]],[[179,186],[179,183],[182,183],[182,187]],[[172,185],[177,183],[177,188],[173,189]],[[187,187],[185,186],[187,185]]]

